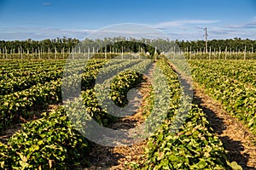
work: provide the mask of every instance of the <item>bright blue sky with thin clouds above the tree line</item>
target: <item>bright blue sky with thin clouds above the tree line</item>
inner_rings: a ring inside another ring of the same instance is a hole
[[[83,39],[104,26],[153,26],[171,39],[256,39],[255,0],[0,0],[0,39]]]

